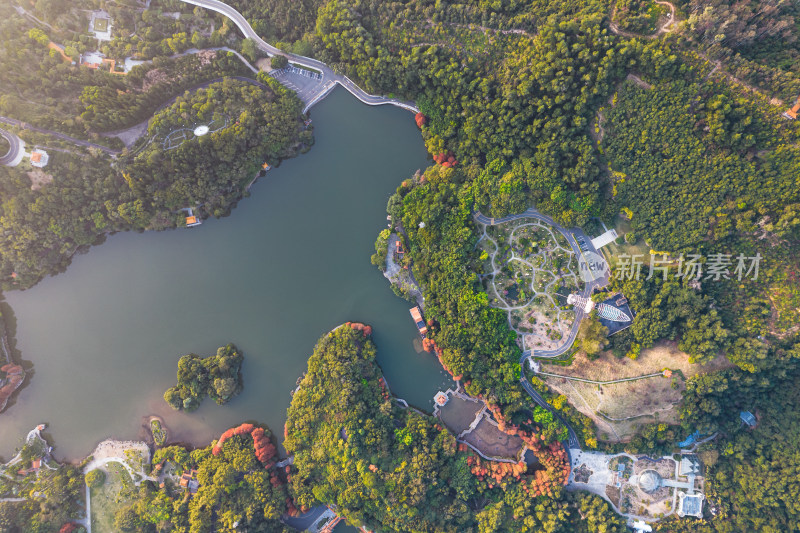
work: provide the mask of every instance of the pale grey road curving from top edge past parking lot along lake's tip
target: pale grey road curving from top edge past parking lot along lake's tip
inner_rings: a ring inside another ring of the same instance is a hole
[[[222,15],[225,15],[239,28],[239,31],[244,34],[244,36],[248,39],[252,39],[255,42],[256,46],[258,46],[262,51],[266,52],[270,57],[275,55],[283,55],[286,56],[289,61],[300,65],[302,67],[318,70],[322,73],[322,84],[319,94],[315,97],[310,99],[310,101],[306,104],[305,109],[303,110],[308,111],[314,104],[325,98],[325,96],[333,90],[336,85],[341,85],[347,91],[361,100],[361,102],[367,105],[394,105],[397,107],[401,107],[412,113],[418,113],[419,109],[411,102],[403,102],[401,100],[396,100],[394,98],[387,98],[385,96],[376,96],[372,94],[368,94],[365,92],[361,87],[353,83],[353,81],[344,76],[342,74],[337,74],[333,71],[328,65],[323,63],[322,61],[318,61],[316,59],[311,59],[310,57],[299,56],[295,54],[290,54],[280,50],[269,44],[268,42],[264,41],[250,26],[250,23],[247,22],[247,19],[244,16],[236,11],[234,8],[229,6],[224,2],[220,2],[219,0],[181,0],[187,4],[192,4],[195,6],[204,7],[206,9],[210,9],[212,11],[216,11]]]

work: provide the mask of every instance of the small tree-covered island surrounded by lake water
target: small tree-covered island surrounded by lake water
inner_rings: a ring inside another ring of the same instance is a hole
[[[220,347],[210,357],[184,355],[178,361],[178,384],[167,389],[164,400],[178,411],[194,411],[206,396],[224,404],[242,391],[242,360],[233,344]]]

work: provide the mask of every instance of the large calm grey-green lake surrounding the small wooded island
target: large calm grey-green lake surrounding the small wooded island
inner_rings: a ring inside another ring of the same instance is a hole
[[[452,382],[419,353],[410,304],[370,264],[389,195],[427,166],[413,116],[337,89],[312,118],[316,145],[260,179],[231,216],[113,235],[65,273],[6,294],[35,374],[0,415],[0,455],[46,422],[56,455],[76,459],[104,438],[142,438],[149,414],[164,417],[170,440],[206,444],[252,420],[280,441],[314,344],[345,321],[374,326],[392,392],[432,410]],[[162,395],[178,358],[228,342],[245,354],[242,394],[172,411]]]

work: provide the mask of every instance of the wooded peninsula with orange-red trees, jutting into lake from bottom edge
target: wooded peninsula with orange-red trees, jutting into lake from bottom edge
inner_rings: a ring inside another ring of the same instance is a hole
[[[531,433],[541,468],[528,472],[479,458],[436,419],[398,403],[370,334],[346,324],[320,339],[292,397],[284,446],[298,506],[334,505],[351,524],[380,531],[624,531],[599,498],[564,492],[560,443],[540,445]]]

